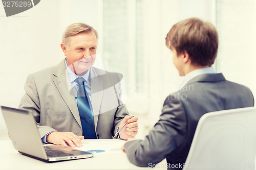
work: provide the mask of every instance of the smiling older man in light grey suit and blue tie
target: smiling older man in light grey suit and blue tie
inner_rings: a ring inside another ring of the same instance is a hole
[[[138,118],[122,103],[122,75],[93,67],[97,31],[84,23],[70,25],[62,36],[66,56],[58,65],[28,76],[19,108],[35,117],[42,141],[80,147],[81,140],[133,138]]]

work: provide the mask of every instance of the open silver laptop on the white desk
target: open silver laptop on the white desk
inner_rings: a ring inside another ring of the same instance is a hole
[[[28,110],[1,106],[13,147],[23,155],[45,162],[90,158],[92,153],[62,145],[43,145],[34,116]]]

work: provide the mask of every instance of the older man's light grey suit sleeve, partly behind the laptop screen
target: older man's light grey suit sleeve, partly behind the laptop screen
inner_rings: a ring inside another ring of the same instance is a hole
[[[40,126],[40,100],[38,96],[38,92],[36,89],[36,83],[34,77],[29,75],[27,81],[25,83],[25,94],[20,101],[19,107],[20,109],[29,110],[37,124],[38,131],[40,133],[40,137],[44,137],[49,132],[55,131],[55,129],[48,126]]]

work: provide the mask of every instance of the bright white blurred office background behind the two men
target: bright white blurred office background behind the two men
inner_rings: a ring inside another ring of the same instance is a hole
[[[165,37],[189,17],[217,27],[217,72],[255,94],[255,0],[42,0],[10,17],[0,5],[0,105],[18,107],[27,76],[58,64],[64,58],[63,31],[84,22],[99,33],[98,64],[124,75],[127,108],[139,117],[142,138],[158,120],[166,96],[178,90],[182,78]],[[7,136],[0,114],[0,139]]]

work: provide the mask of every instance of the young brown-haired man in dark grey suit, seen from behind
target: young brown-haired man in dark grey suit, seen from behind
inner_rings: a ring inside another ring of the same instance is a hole
[[[121,149],[138,166],[166,158],[168,169],[182,169],[203,114],[254,106],[254,100],[249,88],[225,80],[211,67],[218,50],[218,33],[211,23],[180,21],[167,34],[166,45],[184,76],[183,88],[166,98],[160,119],[144,140],[127,141]]]

